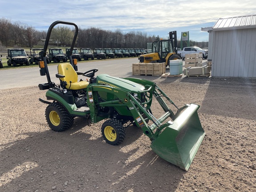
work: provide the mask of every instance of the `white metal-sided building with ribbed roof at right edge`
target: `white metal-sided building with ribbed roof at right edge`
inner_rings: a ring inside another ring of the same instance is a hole
[[[256,77],[256,15],[220,18],[209,32],[212,76]]]

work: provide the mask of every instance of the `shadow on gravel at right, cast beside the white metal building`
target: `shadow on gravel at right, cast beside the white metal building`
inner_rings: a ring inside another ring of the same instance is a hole
[[[209,115],[255,120],[255,106],[256,80],[212,78],[200,112]]]

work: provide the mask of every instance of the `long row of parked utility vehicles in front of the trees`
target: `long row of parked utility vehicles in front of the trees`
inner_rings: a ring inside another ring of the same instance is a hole
[[[8,49],[8,55],[6,57],[8,66],[16,66],[17,64],[29,65],[29,64],[38,64],[42,60],[43,54],[42,48],[31,48],[30,55],[26,54],[24,49],[13,48]],[[47,63],[50,62],[58,63],[60,61],[67,62],[69,60],[68,56],[70,48],[66,48],[66,53],[64,54],[61,48],[49,48],[48,55],[46,56]],[[120,48],[94,48],[93,51],[91,48],[80,48],[80,51],[77,48],[74,48],[72,51],[72,59],[77,59],[78,61],[84,60],[94,60],[95,58],[108,59],[108,58],[121,58],[121,57],[136,57],[141,54],[145,54],[145,49],[120,49]],[[3,68],[2,63],[0,63],[0,68]]]

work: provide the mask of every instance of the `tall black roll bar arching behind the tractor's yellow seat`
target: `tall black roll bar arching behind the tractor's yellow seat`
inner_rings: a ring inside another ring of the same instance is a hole
[[[72,44],[71,44],[70,53],[69,53],[71,57],[72,57],[72,52],[73,52],[73,49],[74,49],[74,46],[75,46],[75,43],[76,43],[76,38],[77,38],[77,35],[78,35],[78,27],[77,27],[77,25],[74,24],[74,23],[58,20],[58,21],[53,22],[53,23],[50,25],[50,27],[49,27],[49,29],[48,29],[48,32],[47,32],[46,39],[45,39],[44,50],[43,50],[44,66],[45,66],[46,76],[47,76],[47,80],[48,80],[48,84],[49,84],[50,88],[53,88],[55,85],[54,85],[54,83],[51,81],[51,78],[50,78],[50,74],[49,74],[49,70],[48,70],[48,66],[47,66],[47,61],[46,61],[46,53],[47,53],[47,48],[48,48],[50,36],[51,36],[51,33],[52,33],[52,29],[53,29],[57,24],[73,25],[73,26],[75,27],[75,29],[76,29],[76,32],[75,32],[75,35],[74,35],[74,38],[73,38],[73,41],[72,41]],[[72,67],[74,68],[74,64],[73,64],[73,61],[72,61],[72,60],[70,60],[70,64],[71,64]]]

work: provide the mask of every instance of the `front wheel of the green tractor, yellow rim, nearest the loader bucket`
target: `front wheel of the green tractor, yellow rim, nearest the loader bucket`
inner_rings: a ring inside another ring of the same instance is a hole
[[[124,141],[125,128],[117,119],[106,120],[101,127],[104,140],[111,145],[118,145]]]

